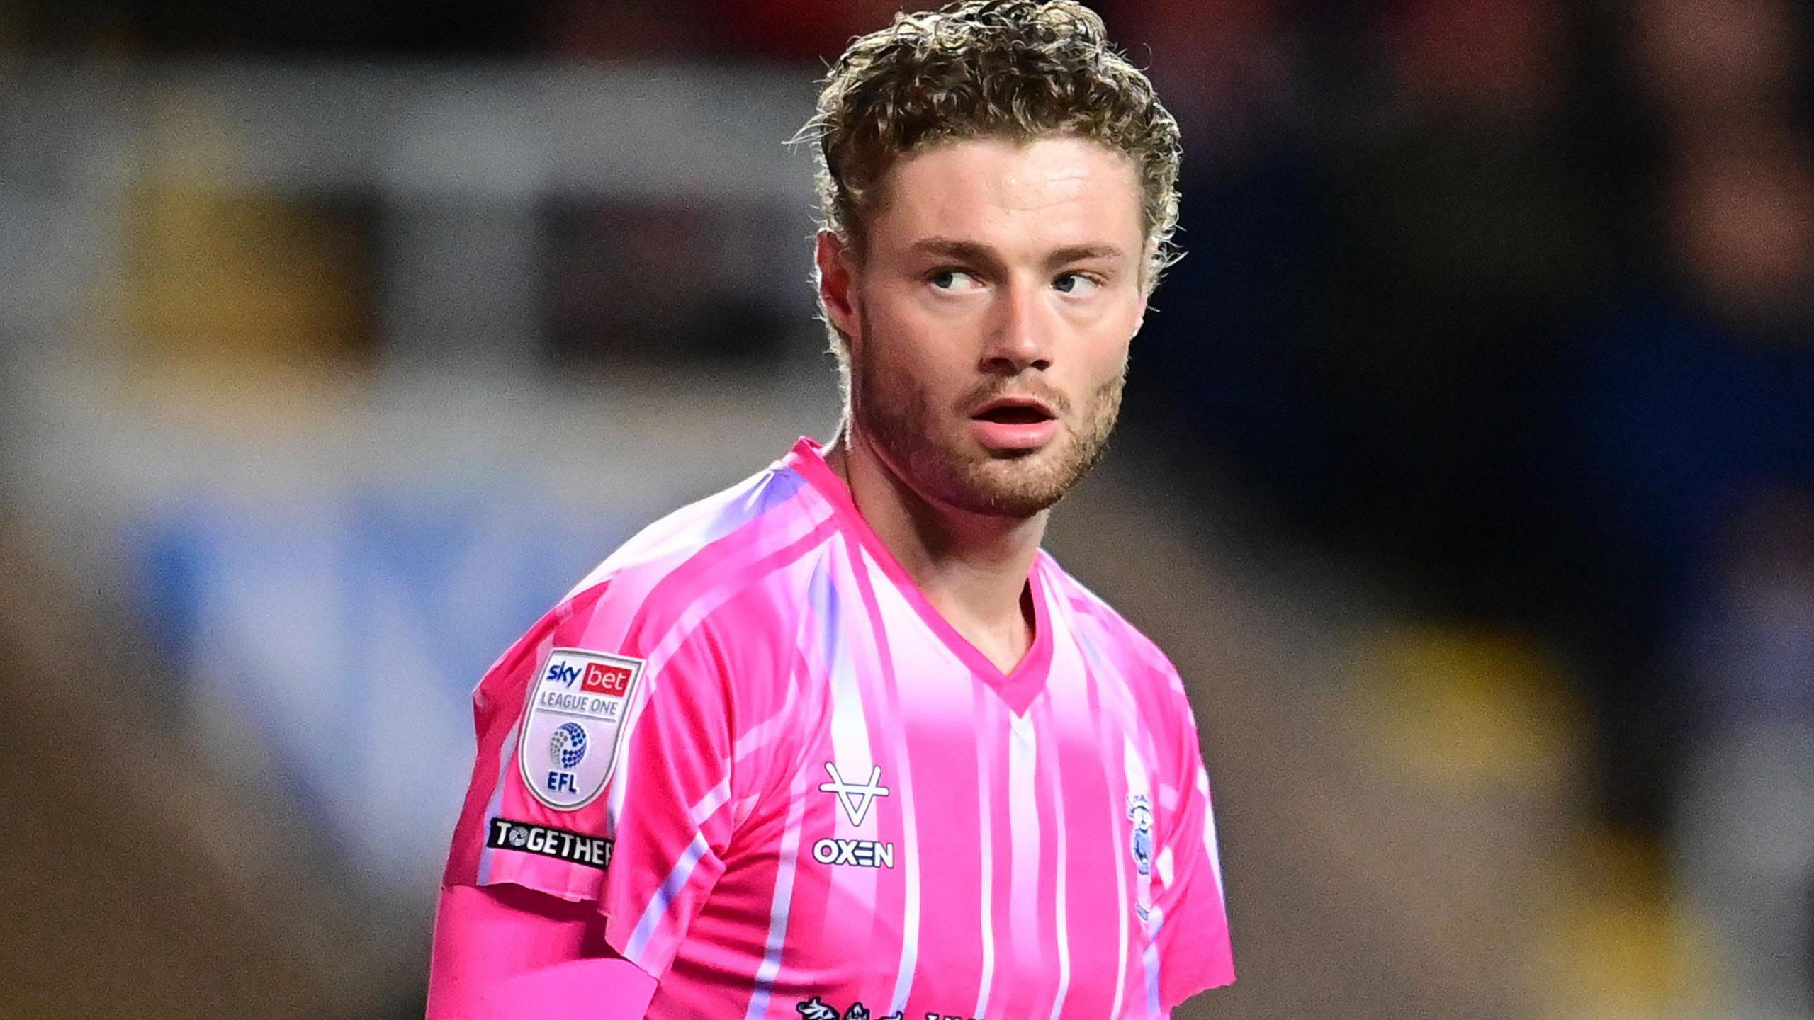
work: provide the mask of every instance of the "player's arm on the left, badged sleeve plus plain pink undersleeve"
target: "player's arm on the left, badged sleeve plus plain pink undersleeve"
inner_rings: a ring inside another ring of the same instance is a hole
[[[441,882],[430,1020],[644,1016],[724,871],[717,644],[702,628],[668,641],[677,624],[606,595],[546,615],[473,691],[479,746]],[[664,642],[653,662],[651,641]],[[586,713],[541,711],[579,691]]]

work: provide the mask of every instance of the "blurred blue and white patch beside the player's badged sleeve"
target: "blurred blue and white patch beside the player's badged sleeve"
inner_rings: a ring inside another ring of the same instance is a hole
[[[532,483],[209,494],[129,530],[140,604],[218,768],[276,782],[379,884],[432,878],[470,691],[628,530]]]

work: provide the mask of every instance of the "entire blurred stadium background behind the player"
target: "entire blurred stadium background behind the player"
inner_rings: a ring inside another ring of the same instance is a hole
[[[1194,684],[1179,1015],[1814,1016],[1810,13],[1097,7],[1188,258],[1050,546]],[[836,423],[784,140],[892,11],[0,7],[0,1015],[421,1015],[479,675]]]

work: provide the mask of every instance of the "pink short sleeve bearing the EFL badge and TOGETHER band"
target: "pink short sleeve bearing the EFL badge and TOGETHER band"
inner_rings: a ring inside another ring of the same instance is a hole
[[[724,873],[735,722],[713,630],[646,604],[580,593],[481,681],[444,884],[591,904],[660,978]]]

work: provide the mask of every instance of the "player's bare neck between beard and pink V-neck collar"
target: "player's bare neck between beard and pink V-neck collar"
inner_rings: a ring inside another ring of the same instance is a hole
[[[849,428],[840,430],[825,463],[927,603],[1003,673],[1012,670],[1032,648],[1027,577],[1047,512],[992,517],[925,499]]]

